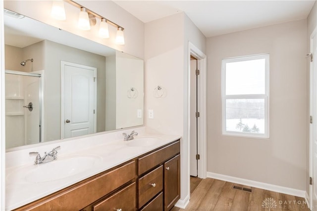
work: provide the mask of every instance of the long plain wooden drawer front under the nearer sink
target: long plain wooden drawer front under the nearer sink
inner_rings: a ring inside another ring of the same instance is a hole
[[[17,210],[81,210],[135,178],[135,161],[88,178]],[[111,182],[109,182],[111,181]]]

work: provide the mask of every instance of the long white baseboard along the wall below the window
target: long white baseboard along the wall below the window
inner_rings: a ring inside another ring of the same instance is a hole
[[[304,190],[298,190],[298,189],[294,189],[294,188],[272,185],[272,184],[268,184],[268,183],[264,183],[264,182],[257,182],[257,181],[253,181],[253,180],[249,180],[249,179],[242,179],[242,178],[238,178],[238,177],[227,176],[227,175],[212,173],[212,172],[207,172],[207,177],[213,178],[213,179],[224,180],[227,182],[247,185],[247,186],[251,186],[251,187],[261,188],[264,190],[274,191],[274,192],[278,192],[278,193],[303,197],[306,201],[309,199],[307,192]]]

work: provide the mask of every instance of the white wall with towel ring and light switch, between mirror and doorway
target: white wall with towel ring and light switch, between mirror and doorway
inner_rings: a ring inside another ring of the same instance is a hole
[[[154,119],[146,125],[166,134],[182,135],[181,201],[189,199],[187,83],[188,42],[203,52],[206,38],[184,13],[178,13],[145,24],[146,110],[154,110]],[[160,85],[166,96],[156,98]]]

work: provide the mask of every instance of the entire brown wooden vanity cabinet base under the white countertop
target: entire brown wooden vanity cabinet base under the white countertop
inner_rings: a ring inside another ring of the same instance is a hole
[[[169,211],[180,198],[180,141],[159,147],[17,211]]]

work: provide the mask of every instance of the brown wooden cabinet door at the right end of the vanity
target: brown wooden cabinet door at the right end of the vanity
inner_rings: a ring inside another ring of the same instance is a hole
[[[180,199],[180,156],[164,163],[164,211],[169,211]]]

